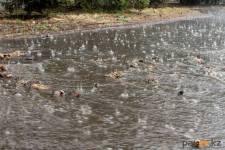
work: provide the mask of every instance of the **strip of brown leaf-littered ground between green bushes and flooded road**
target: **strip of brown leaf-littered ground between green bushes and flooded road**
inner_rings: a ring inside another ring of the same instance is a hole
[[[44,13],[44,15],[34,12],[33,18],[29,20],[23,19],[25,15],[23,11],[17,11],[11,15],[6,11],[0,11],[0,38],[29,38],[31,35],[48,36],[71,30],[81,31],[183,17],[206,16],[195,11],[199,8],[215,9],[214,7],[186,7],[171,4],[165,4],[158,8],[146,8],[141,11],[129,9],[115,13],[95,14],[80,9],[72,11],[55,9]]]

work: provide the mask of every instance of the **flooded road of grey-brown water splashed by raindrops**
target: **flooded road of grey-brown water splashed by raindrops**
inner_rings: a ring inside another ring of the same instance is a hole
[[[2,53],[28,55],[1,60],[14,76],[0,80],[1,148],[178,150],[183,141],[225,141],[224,14],[0,40]],[[205,64],[193,61],[197,55]],[[115,71],[122,78],[105,76]],[[52,88],[36,90],[19,77]]]

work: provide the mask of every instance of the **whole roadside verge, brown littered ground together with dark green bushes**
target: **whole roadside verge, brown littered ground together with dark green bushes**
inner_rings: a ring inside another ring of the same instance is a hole
[[[183,0],[183,4],[167,4],[165,0],[89,1],[12,0],[4,3],[5,10],[0,11],[0,38],[48,35],[68,30],[80,31],[196,16],[201,14],[194,8],[202,7],[186,6],[190,3],[188,0]],[[214,1],[210,1],[210,4],[214,4]]]

